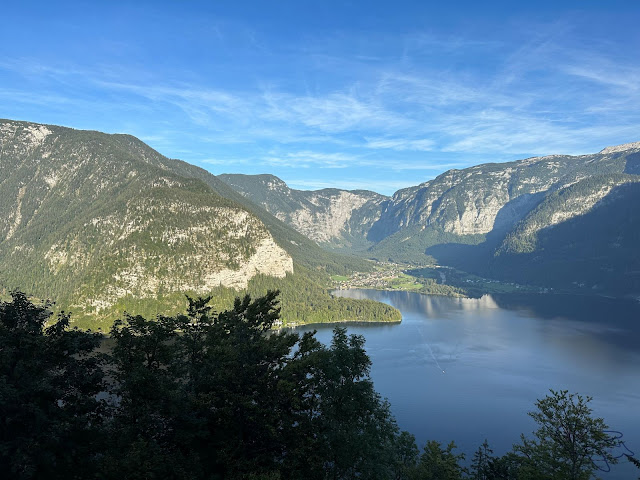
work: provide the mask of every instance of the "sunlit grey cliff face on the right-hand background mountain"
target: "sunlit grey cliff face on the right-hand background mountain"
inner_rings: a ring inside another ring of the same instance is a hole
[[[460,236],[487,234],[513,226],[535,206],[538,194],[593,174],[622,173],[624,168],[619,154],[598,154],[450,170],[418,187],[397,192],[374,231],[384,237],[420,225]]]

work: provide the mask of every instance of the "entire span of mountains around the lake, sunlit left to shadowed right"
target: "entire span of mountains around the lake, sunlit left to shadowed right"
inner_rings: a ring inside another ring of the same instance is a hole
[[[101,319],[91,325],[180,308],[184,293],[222,305],[266,288],[283,290],[285,323],[397,320],[328,295],[330,275],[375,271],[372,260],[640,294],[638,143],[449,170],[388,197],[214,176],[130,135],[2,120],[0,171],[0,286]],[[465,280],[450,287],[444,271],[423,279],[425,293],[471,291],[459,287],[472,277],[451,274]]]

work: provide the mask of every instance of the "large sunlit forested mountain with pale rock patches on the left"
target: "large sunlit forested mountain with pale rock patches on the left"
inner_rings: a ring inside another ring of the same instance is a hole
[[[0,120],[0,265],[5,291],[103,319],[166,311],[184,304],[183,293],[229,297],[229,288],[296,282],[329,308],[315,283],[323,272],[370,268],[135,137],[11,120]],[[352,307],[334,303],[335,312]],[[283,313],[318,320],[318,309],[299,304]]]

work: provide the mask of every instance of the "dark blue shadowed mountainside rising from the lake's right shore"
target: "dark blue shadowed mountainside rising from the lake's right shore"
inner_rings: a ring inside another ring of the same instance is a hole
[[[640,292],[640,183],[614,187],[590,211],[538,232],[530,252],[497,256],[489,272],[545,287],[585,293]]]

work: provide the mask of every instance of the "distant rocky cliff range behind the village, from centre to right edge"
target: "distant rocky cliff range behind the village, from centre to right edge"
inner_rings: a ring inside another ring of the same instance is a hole
[[[362,191],[298,191],[271,175],[220,178],[324,246],[420,263],[450,261],[450,256],[437,255],[443,252],[439,246],[482,244],[485,256],[505,251],[513,242],[535,249],[542,229],[584,215],[637,174],[639,143],[593,155],[550,155],[450,170],[392,198]],[[553,201],[556,197],[564,203]],[[548,213],[544,218],[533,215],[539,205]],[[507,235],[512,243],[504,243]]]

